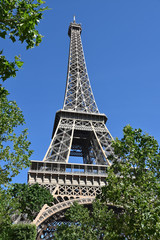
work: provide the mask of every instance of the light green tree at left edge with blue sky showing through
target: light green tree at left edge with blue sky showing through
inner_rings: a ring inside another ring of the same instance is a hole
[[[0,185],[7,184],[19,171],[29,166],[32,151],[27,140],[27,129],[18,133],[15,128],[24,124],[24,117],[8,92],[0,87]]]

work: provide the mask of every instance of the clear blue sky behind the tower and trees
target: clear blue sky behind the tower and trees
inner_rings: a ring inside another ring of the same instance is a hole
[[[39,47],[1,40],[4,53],[21,55],[23,69],[5,86],[23,110],[32,160],[42,160],[54,117],[62,108],[69,53],[68,26],[76,15],[93,93],[113,137],[126,124],[160,143],[160,0],[49,0]],[[26,182],[24,170],[15,181]]]

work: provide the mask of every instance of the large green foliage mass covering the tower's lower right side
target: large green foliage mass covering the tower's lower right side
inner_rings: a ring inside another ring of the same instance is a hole
[[[160,152],[141,129],[124,127],[116,139],[107,184],[89,211],[75,204],[55,239],[160,239]],[[67,237],[65,237],[67,236]]]

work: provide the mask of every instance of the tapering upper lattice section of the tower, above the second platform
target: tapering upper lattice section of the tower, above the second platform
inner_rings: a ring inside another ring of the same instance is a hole
[[[70,51],[68,74],[64,98],[64,110],[76,112],[98,113],[98,108],[91,89],[81,41],[81,24],[69,26]]]

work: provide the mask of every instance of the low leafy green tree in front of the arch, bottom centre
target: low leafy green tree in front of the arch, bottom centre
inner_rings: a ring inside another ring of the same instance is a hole
[[[54,239],[115,239],[114,228],[117,226],[114,211],[108,211],[108,206],[99,200],[93,203],[92,211],[74,202],[65,216],[69,223],[58,227]]]

